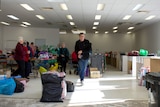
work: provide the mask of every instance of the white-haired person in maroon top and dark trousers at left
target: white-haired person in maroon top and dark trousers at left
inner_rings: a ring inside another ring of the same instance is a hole
[[[22,78],[25,78],[25,51],[23,48],[23,42],[23,37],[19,37],[18,43],[15,48],[14,59],[18,64],[18,68],[15,71],[16,74],[19,74]]]

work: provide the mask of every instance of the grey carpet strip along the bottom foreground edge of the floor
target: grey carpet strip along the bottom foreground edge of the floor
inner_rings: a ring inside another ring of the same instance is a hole
[[[0,107],[148,107],[147,100],[127,100],[124,102],[114,103],[99,103],[99,104],[85,104],[85,105],[70,105],[69,100],[63,103],[44,103],[39,102],[39,99],[18,99],[18,98],[0,98]]]

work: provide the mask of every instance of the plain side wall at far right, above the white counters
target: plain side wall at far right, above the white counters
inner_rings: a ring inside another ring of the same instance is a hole
[[[137,31],[135,35],[137,49],[144,48],[150,53],[160,50],[160,22]]]

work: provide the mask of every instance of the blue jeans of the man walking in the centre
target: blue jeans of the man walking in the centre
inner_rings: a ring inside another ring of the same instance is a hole
[[[79,72],[79,77],[80,80],[83,81],[84,80],[84,76],[85,76],[85,72],[86,72],[86,68],[88,65],[88,59],[84,60],[84,59],[80,59],[78,61],[78,72]]]

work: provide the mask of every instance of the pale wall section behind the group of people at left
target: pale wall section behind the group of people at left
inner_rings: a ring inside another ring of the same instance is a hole
[[[59,29],[55,28],[23,28],[23,27],[3,27],[3,42],[1,46],[3,50],[15,47],[18,37],[22,36],[24,40],[35,42],[35,39],[46,39],[46,45],[57,46],[59,43]],[[11,43],[11,44],[8,44]]]

